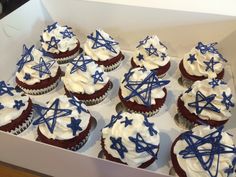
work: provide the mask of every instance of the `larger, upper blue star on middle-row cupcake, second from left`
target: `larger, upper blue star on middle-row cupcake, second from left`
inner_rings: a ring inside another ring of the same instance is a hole
[[[71,64],[73,65],[73,67],[70,70],[70,74],[73,74],[78,69],[80,69],[83,72],[86,72],[87,71],[87,64],[89,64],[91,62],[93,62],[93,60],[91,58],[86,59],[83,54],[80,54],[79,59],[75,58],[71,61]]]

